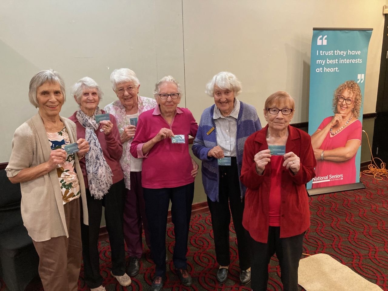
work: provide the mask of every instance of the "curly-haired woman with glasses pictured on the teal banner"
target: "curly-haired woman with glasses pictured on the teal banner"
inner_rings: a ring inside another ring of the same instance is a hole
[[[317,159],[313,189],[356,182],[355,158],[362,133],[358,120],[361,104],[361,90],[355,81],[346,81],[334,91],[334,116],[325,118],[311,136]]]

